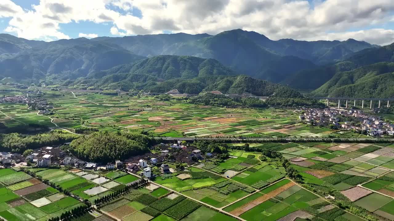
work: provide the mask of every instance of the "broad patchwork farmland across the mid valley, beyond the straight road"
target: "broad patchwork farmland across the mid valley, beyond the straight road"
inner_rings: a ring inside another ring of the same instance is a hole
[[[9,103],[0,104],[0,110],[8,116],[1,115],[0,122],[4,122],[6,127],[35,123],[71,130],[85,126],[99,130],[122,127],[168,137],[347,136],[299,122],[297,114],[291,110],[227,109],[194,105],[182,100],[160,101],[150,96],[110,96],[87,92],[76,92],[75,95],[76,98],[68,91],[45,91],[42,97],[54,105],[53,123],[50,118],[37,115],[24,104]]]

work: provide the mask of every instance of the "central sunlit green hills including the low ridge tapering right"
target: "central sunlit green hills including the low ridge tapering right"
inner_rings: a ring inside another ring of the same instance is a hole
[[[89,74],[85,78],[63,83],[75,89],[103,89],[165,93],[177,89],[180,93],[199,94],[220,90],[222,93],[250,92],[271,96],[293,89],[268,81],[237,76],[236,72],[214,59],[192,56],[160,55],[133,64],[123,64]]]

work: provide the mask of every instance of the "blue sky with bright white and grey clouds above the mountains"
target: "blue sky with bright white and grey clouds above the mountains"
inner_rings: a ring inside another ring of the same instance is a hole
[[[393,0],[0,0],[0,30],[29,40],[256,31],[269,39],[394,42]]]

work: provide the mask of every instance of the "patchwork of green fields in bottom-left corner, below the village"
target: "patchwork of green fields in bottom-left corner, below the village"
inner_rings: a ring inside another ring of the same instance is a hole
[[[58,186],[64,191],[81,197],[81,200],[90,200],[98,195],[113,193],[110,188],[107,189],[100,184],[94,184],[90,180],[76,175],[75,171],[63,169],[27,169],[35,172],[34,176],[41,177]],[[114,171],[116,172],[116,171]],[[86,171],[81,175],[96,174],[94,171]],[[119,173],[116,177],[122,177]],[[13,176],[13,177],[11,177]],[[99,177],[99,174],[97,174]],[[117,183],[113,180],[110,185]],[[33,178],[24,171],[15,171],[13,169],[0,169],[0,216],[8,221],[47,221],[52,217],[58,217],[66,211],[84,205],[81,201],[60,193],[55,188],[48,186],[38,179]],[[106,184],[106,183],[104,183]],[[104,185],[103,184],[103,185]],[[118,183],[120,185],[120,183]],[[84,193],[86,191],[90,191]],[[106,216],[98,214],[98,220],[109,221]],[[78,220],[93,220],[95,217],[85,214]]]

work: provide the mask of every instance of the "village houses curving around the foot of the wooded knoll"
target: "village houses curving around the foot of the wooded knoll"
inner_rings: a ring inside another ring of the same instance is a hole
[[[23,156],[19,153],[0,153],[3,167],[33,166],[38,168],[73,167],[87,170],[123,170],[141,177],[151,178],[160,174],[175,172],[175,164],[190,166],[198,160],[212,158],[215,154],[202,155],[201,150],[189,145],[182,145],[179,141],[175,144],[158,144],[143,155],[126,159],[124,162],[115,160],[108,164],[99,162],[86,162],[74,157],[64,147],[42,147],[33,150],[33,153]],[[169,166],[171,165],[171,167]]]

